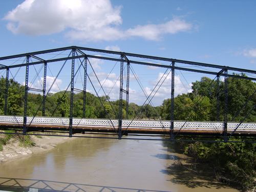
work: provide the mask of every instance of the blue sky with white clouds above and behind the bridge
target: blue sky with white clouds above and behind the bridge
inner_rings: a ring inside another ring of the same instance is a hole
[[[0,56],[76,45],[256,70],[255,10],[255,1],[1,1]],[[102,83],[114,64],[92,60]],[[50,68],[49,82],[58,67]],[[163,69],[133,68],[148,94],[164,73]],[[105,81],[107,91],[118,71],[116,67]],[[67,67],[53,91],[67,87],[68,72]],[[177,94],[189,91],[190,83],[202,76],[177,71]],[[22,73],[16,78],[24,82]],[[35,87],[39,81],[33,82]],[[79,78],[77,87],[81,87]],[[152,100],[154,105],[169,98],[169,87],[168,76]],[[88,90],[94,92],[91,86]],[[117,91],[118,82],[111,98],[118,98]],[[141,104],[144,98],[131,77],[131,101]]]

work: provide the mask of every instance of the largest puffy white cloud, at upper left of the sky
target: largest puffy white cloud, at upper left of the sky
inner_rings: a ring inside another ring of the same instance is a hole
[[[26,0],[4,17],[13,33],[44,35],[67,28],[91,31],[122,23],[120,7],[107,0]]]

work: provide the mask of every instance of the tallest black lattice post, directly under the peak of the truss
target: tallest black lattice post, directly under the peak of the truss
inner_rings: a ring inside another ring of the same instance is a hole
[[[75,56],[75,49],[72,49],[72,57]],[[71,65],[71,88],[70,88],[70,114],[69,114],[69,137],[72,137],[72,125],[73,125],[73,97],[74,97],[74,70],[75,59],[72,58]]]

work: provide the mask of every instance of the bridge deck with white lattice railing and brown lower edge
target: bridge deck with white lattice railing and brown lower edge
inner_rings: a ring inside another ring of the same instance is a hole
[[[239,122],[228,122],[227,133],[232,133]],[[8,127],[22,129],[23,117],[0,116],[0,128]],[[40,130],[69,130],[69,118],[62,117],[28,117],[28,131]],[[74,133],[79,132],[110,132],[115,133],[118,129],[118,120],[113,119],[81,119],[73,118],[72,129]],[[156,120],[123,120],[122,131],[143,134],[169,134],[170,121]],[[199,122],[199,121],[175,121],[174,133],[195,135],[220,135],[223,131],[223,122]],[[256,135],[256,123],[241,123],[234,134]]]

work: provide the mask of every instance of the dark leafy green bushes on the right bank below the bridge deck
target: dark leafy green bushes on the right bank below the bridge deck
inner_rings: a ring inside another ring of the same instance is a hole
[[[185,153],[197,161],[207,163],[220,181],[242,190],[256,185],[255,143],[202,143],[185,146]]]

